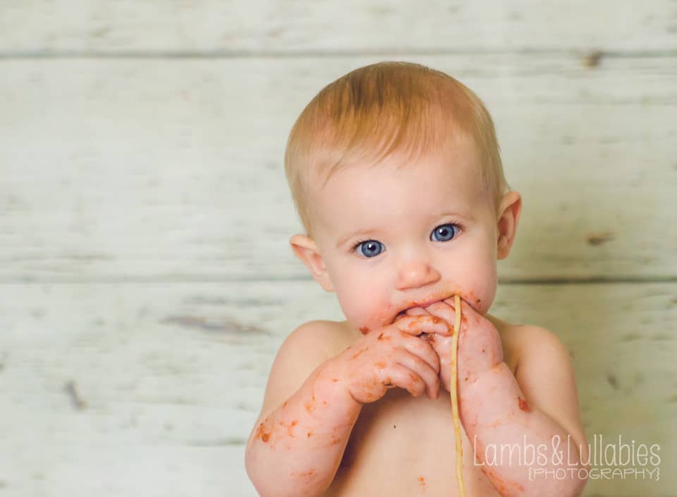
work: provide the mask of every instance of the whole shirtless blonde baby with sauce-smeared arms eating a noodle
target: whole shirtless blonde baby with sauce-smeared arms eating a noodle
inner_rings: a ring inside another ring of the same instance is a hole
[[[580,495],[566,348],[488,313],[521,198],[477,95],[419,64],[358,68],[305,107],[285,167],[307,233],[291,246],[346,321],[300,325],[276,355],[245,455],[260,495],[461,495],[452,381],[466,495]]]

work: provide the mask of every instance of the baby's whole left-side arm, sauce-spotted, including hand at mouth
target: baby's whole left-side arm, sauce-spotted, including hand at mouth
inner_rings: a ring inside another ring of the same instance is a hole
[[[245,453],[260,495],[322,495],[341,464],[362,405],[379,400],[389,388],[437,398],[439,359],[418,335],[447,329],[433,316],[403,318],[329,359],[324,350],[336,338],[327,323],[295,330],[274,361]]]

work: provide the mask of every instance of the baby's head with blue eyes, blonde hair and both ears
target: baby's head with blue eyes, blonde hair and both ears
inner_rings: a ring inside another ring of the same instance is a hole
[[[419,64],[358,68],[307,104],[285,170],[306,230],[292,248],[355,328],[453,294],[487,313],[521,200],[470,89]]]

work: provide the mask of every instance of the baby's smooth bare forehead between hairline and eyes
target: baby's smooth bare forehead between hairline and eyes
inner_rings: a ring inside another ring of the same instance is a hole
[[[449,211],[474,217],[487,203],[475,147],[469,143],[410,163],[386,157],[373,167],[348,167],[317,193],[319,222],[332,234],[403,220],[426,222]]]

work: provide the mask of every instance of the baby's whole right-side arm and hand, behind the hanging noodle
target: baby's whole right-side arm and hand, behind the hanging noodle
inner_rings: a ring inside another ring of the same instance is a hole
[[[430,313],[453,323],[452,304],[449,299],[407,314]],[[580,464],[587,461],[587,443],[566,348],[549,331],[525,327],[520,330],[525,345],[513,376],[494,325],[465,301],[461,307],[459,408],[482,471],[506,497],[580,495],[587,471],[578,469],[587,469]],[[427,340],[439,354],[446,387],[451,382],[453,336],[428,335]]]

